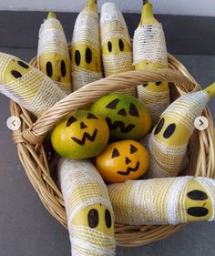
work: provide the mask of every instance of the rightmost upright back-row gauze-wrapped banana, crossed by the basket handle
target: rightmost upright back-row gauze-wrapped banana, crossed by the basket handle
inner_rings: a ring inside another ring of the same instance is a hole
[[[168,67],[163,28],[148,2],[143,5],[140,23],[134,34],[133,57],[136,70]],[[148,82],[138,86],[138,98],[148,107],[155,125],[169,106],[169,83]]]

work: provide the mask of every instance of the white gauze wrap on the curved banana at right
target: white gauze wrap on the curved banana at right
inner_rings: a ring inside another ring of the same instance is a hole
[[[210,97],[205,91],[185,94],[169,105],[160,118],[169,117],[173,122],[177,120],[189,129],[191,136],[194,130],[194,120],[201,115],[209,99]],[[189,141],[181,146],[169,146],[155,138],[154,130],[148,141],[150,164],[147,177],[178,176]]]

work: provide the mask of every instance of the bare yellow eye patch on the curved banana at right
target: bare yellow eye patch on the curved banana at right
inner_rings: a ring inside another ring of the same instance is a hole
[[[189,129],[175,118],[163,117],[153,130],[155,138],[169,146],[184,145],[189,141]]]

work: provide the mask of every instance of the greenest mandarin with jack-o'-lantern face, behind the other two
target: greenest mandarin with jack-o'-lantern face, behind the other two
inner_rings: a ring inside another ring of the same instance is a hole
[[[148,108],[136,97],[115,93],[99,98],[91,111],[106,119],[110,138],[140,139],[151,128]]]

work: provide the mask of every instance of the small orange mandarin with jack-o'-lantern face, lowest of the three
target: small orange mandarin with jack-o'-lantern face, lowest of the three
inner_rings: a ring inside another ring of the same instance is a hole
[[[97,170],[109,183],[138,179],[148,169],[148,163],[148,151],[132,139],[108,144],[96,158]]]

